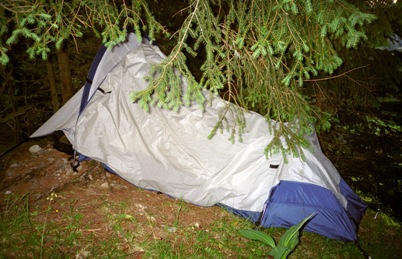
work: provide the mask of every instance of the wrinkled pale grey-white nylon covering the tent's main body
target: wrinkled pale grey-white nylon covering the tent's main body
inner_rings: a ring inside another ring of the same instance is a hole
[[[268,125],[259,114],[245,113],[243,142],[232,144],[230,133],[207,138],[226,103],[214,98],[202,112],[197,105],[179,112],[151,108],[145,112],[129,99],[147,87],[144,76],[165,56],[142,44],[110,72],[78,119],[74,148],[98,160],[136,186],[157,190],[201,206],[217,203],[245,211],[259,211],[270,190],[281,180],[309,182],[329,189],[346,208],[339,190],[340,176],[321,153],[315,135],[314,153],[306,160],[282,156],[266,159]],[[270,168],[270,165],[279,165]]]

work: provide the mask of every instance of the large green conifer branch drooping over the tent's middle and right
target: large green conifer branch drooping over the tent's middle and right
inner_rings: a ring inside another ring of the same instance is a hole
[[[222,12],[215,13],[211,5],[219,5]],[[176,47],[166,61],[153,68],[150,88],[136,93],[135,100],[145,108],[154,103],[178,109],[183,98],[187,105],[192,101],[203,105],[203,88],[214,95],[223,92],[236,105],[228,104],[221,111],[210,137],[228,126],[233,134],[242,132],[245,125],[238,114],[250,109],[266,117],[275,136],[267,143],[267,155],[302,155],[301,148],[308,147],[304,136],[330,127],[330,115],[303,95],[304,81],[319,71],[333,73],[342,60],[332,40],[356,47],[365,39],[363,25],[375,19],[341,0],[197,0],[190,1],[188,10]],[[311,32],[315,32],[312,37],[306,36]],[[187,44],[189,36],[195,40],[193,46]],[[196,82],[183,52],[194,55],[200,47],[206,55],[202,77]],[[187,89],[178,91],[179,86],[163,79],[174,76],[184,76]],[[173,91],[176,98],[167,98],[165,91]]]

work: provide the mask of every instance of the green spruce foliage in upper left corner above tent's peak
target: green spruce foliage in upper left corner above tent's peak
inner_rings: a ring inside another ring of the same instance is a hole
[[[0,3],[0,62],[8,62],[7,46],[19,38],[32,43],[27,49],[30,58],[47,58],[51,46],[60,49],[70,37],[82,37],[85,29],[92,29],[107,47],[112,47],[126,38],[128,28],[134,28],[139,39],[142,30],[154,37],[162,26],[151,15],[146,1],[107,0],[53,0],[13,1]],[[146,23],[142,20],[145,19]],[[9,31],[8,31],[9,30]],[[6,35],[6,41],[1,41]]]

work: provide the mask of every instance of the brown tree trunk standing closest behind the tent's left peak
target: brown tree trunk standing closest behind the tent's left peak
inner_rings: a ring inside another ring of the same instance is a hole
[[[57,52],[57,59],[60,68],[62,101],[63,103],[66,103],[70,99],[70,97],[73,96],[74,91],[73,82],[71,80],[70,59],[65,45]]]

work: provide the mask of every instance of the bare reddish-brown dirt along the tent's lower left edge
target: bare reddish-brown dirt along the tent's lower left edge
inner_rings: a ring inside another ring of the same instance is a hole
[[[34,145],[39,145],[41,149],[30,152]],[[181,226],[207,228],[214,221],[231,216],[216,206],[204,208],[186,203],[186,209],[181,209],[182,201],[139,189],[119,176],[106,172],[98,162],[84,161],[77,172],[73,170],[71,162],[69,155],[57,151],[50,142],[44,141],[24,143],[3,156],[0,160],[1,207],[4,207],[10,195],[29,194],[31,208],[46,210],[49,197],[56,193],[58,204],[52,205],[51,219],[61,218],[58,215],[65,215],[72,206],[79,208],[82,220],[91,226],[86,231],[91,231],[100,239],[102,235],[110,233],[110,226],[105,224],[105,209],[113,213],[112,208],[105,208],[105,204],[110,207],[110,204],[124,203],[125,213],[140,219],[138,225],[149,233],[148,238],[151,239],[163,239],[166,227],[173,226],[178,220]]]

